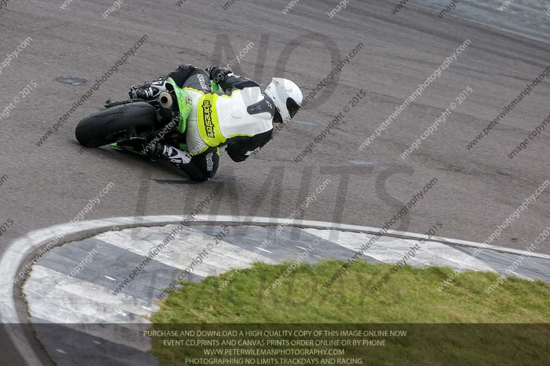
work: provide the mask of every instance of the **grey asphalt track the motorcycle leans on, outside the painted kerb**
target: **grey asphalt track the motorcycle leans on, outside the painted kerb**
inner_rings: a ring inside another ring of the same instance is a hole
[[[36,88],[0,124],[0,176],[7,176],[0,185],[0,222],[13,222],[0,237],[0,255],[14,238],[72,220],[109,182],[115,186],[86,219],[186,216],[217,185],[223,189],[206,211],[212,219],[216,214],[286,218],[330,179],[331,186],[303,218],[382,227],[435,177],[437,184],[392,229],[424,233],[439,221],[441,236],[483,242],[549,178],[548,135],[531,141],[518,157],[507,157],[548,115],[549,81],[539,84],[472,150],[465,146],[549,65],[549,49],[546,43],[452,15],[439,19],[412,4],[393,15],[395,2],[351,1],[330,19],[327,12],[336,1],[300,1],[289,14],[281,12],[286,0],[237,1],[228,10],[223,1],[185,1],[181,7],[176,1],[129,1],[104,19],[110,0],[74,0],[65,10],[61,1],[9,1],[0,9],[3,52],[14,51],[29,36],[32,43],[2,69],[1,110],[30,82]],[[144,34],[148,39],[135,55],[58,133],[36,146]],[[360,151],[364,139],[466,39],[472,44],[450,69]],[[79,152],[76,124],[102,108],[107,98],[126,98],[129,84],[151,80],[181,63],[225,65],[235,55],[222,52],[221,45],[238,54],[250,42],[254,47],[236,64],[236,73],[263,84],[271,76],[283,76],[305,92],[358,43],[364,47],[325,94],[300,112],[297,119],[307,124],[288,124],[245,163],[234,163],[222,152],[219,172],[208,183],[189,184],[166,165],[109,148]],[[292,42],[299,45],[291,54],[285,47]],[[89,82],[72,86],[55,82],[57,77]],[[403,161],[401,152],[467,86],[472,95]],[[303,161],[294,162],[333,115],[351,106],[349,100],[360,89],[366,97],[340,126]],[[549,218],[550,198],[544,192],[492,244],[525,249]],[[548,245],[536,251],[550,253]],[[0,350],[5,360],[17,363],[13,347],[2,344]]]

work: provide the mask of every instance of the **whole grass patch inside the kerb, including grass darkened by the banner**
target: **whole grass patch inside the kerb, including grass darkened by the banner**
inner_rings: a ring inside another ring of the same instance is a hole
[[[332,286],[323,286],[342,264],[301,264],[289,275],[289,264],[254,264],[203,282],[182,282],[153,315],[153,329],[408,332],[380,347],[339,347],[364,365],[544,365],[550,357],[549,284],[509,277],[487,295],[485,288],[498,278],[494,273],[456,277],[450,268],[404,266],[371,292],[392,265],[360,261]],[[439,290],[449,277],[456,278]],[[272,288],[277,280],[280,285]],[[204,357],[200,347],[174,347],[162,337],[153,337],[152,352],[162,365],[190,365],[186,357]]]

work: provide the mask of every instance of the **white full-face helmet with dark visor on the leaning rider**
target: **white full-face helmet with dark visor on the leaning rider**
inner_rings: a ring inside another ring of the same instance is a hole
[[[272,78],[264,93],[273,100],[278,113],[281,114],[282,121],[278,122],[287,122],[294,117],[304,98],[298,85],[283,78]]]

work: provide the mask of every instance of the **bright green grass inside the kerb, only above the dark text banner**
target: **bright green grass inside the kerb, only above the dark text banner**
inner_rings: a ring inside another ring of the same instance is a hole
[[[549,323],[550,286],[509,277],[487,295],[498,277],[465,272],[446,286],[450,268],[404,266],[375,293],[369,289],[391,264],[356,262],[330,288],[323,284],[342,266],[302,264],[264,295],[288,264],[255,264],[202,282],[182,282],[153,316],[155,323]],[[284,275],[283,275],[284,276]],[[230,284],[219,287],[226,279]]]

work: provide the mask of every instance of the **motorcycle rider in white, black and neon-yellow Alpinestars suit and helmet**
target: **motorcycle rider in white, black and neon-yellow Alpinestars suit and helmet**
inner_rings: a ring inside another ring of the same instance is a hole
[[[273,124],[289,121],[300,108],[303,95],[291,80],[273,78],[265,91],[227,67],[199,69],[180,65],[151,84],[132,85],[130,98],[152,100],[166,91],[172,78],[192,100],[187,119],[187,150],[157,142],[148,149],[151,159],[167,159],[194,181],[208,181],[218,169],[219,147],[236,162],[272,139]],[[212,91],[214,80],[222,91]]]

